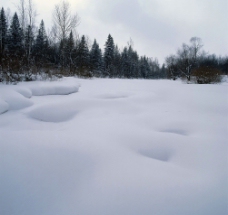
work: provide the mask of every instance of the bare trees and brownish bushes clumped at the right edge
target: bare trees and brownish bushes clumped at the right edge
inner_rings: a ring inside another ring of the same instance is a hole
[[[202,41],[192,37],[190,44],[182,44],[176,55],[166,58],[167,78],[185,78],[199,84],[221,81],[221,75],[228,75],[228,57],[216,57],[202,50]]]

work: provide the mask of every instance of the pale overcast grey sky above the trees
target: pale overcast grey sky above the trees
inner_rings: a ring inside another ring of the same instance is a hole
[[[1,0],[16,11],[19,0]],[[37,25],[52,25],[52,11],[59,0],[33,0]],[[200,37],[205,51],[228,55],[228,0],[69,0],[72,12],[81,17],[77,31],[104,47],[110,33],[119,47],[130,38],[140,55],[162,63],[192,36]]]

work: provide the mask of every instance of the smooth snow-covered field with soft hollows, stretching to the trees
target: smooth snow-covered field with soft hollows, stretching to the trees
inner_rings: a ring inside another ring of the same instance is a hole
[[[228,83],[0,85],[1,215],[228,214]]]

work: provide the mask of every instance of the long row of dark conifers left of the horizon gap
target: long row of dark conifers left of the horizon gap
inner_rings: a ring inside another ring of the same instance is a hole
[[[56,5],[55,12],[56,16],[62,13],[60,17],[68,15],[69,4]],[[89,48],[86,36],[75,38],[73,28],[62,30],[59,17],[49,35],[43,20],[38,28],[33,23],[23,27],[19,17],[14,13],[8,23],[5,10],[1,9],[0,82],[29,81],[53,75],[147,79],[166,76],[164,67],[161,70],[156,59],[140,57],[132,43],[120,50],[108,35],[104,50],[96,40]],[[70,17],[68,21],[72,20],[70,26],[76,26],[77,17]]]

